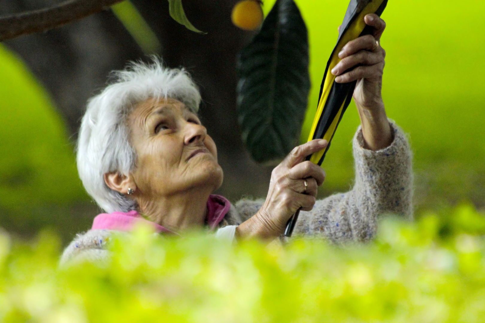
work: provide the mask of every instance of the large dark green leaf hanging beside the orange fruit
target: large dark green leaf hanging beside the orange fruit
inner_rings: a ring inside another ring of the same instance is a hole
[[[277,0],[238,57],[242,139],[258,162],[278,160],[298,143],[307,108],[308,35],[293,0]]]

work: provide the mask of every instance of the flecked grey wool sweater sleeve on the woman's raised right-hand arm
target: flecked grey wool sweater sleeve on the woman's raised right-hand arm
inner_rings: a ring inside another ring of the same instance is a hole
[[[353,189],[317,200],[313,210],[300,212],[295,234],[323,236],[336,243],[367,241],[376,233],[379,215],[412,218],[412,154],[403,130],[390,124],[393,141],[379,151],[363,148],[359,126],[353,140]]]

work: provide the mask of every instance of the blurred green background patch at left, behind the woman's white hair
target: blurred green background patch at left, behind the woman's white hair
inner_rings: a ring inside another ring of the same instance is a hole
[[[2,45],[0,97],[1,226],[31,227],[43,221],[39,210],[46,206],[86,201],[63,121],[32,74]]]

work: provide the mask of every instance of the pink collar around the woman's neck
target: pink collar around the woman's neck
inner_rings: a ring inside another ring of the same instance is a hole
[[[210,230],[213,230],[222,221],[224,216],[231,208],[231,203],[225,197],[220,195],[210,195],[207,200],[207,224]],[[130,231],[135,224],[145,223],[153,226],[157,232],[171,232],[167,228],[161,225],[144,219],[138,212],[113,212],[113,213],[101,213],[94,218],[92,230],[119,230]]]

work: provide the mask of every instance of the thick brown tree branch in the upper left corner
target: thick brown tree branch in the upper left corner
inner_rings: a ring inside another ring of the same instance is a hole
[[[0,17],[0,42],[47,31],[109,8],[122,0],[67,0],[51,8]]]

